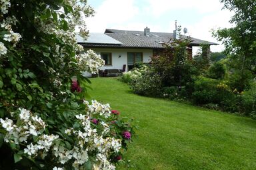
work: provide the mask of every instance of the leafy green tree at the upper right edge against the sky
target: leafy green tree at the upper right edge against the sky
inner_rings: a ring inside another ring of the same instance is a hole
[[[213,33],[225,45],[225,53],[239,63],[239,70],[249,70],[256,75],[256,1],[221,0],[224,9],[235,15],[230,23],[235,27],[219,29]]]

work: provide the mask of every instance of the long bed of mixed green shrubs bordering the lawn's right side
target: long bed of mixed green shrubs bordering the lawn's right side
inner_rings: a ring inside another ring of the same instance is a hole
[[[143,96],[191,102],[255,117],[256,95],[247,85],[255,84],[249,74],[241,76],[231,69],[229,57],[211,61],[199,54],[188,59],[188,43],[189,39],[183,39],[165,44],[163,53],[153,56],[147,69],[135,68],[121,79],[129,82],[133,92]]]

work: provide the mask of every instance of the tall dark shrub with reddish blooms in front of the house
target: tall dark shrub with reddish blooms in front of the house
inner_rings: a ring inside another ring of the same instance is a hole
[[[151,65],[161,76],[163,86],[185,86],[191,81],[191,75],[195,72],[188,59],[189,42],[189,38],[172,40],[163,44],[165,50],[162,54],[152,56]]]

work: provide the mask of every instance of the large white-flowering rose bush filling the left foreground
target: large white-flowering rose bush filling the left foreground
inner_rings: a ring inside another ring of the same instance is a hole
[[[134,135],[109,104],[87,102],[104,60],[86,37],[86,0],[0,0],[0,169],[115,169]]]

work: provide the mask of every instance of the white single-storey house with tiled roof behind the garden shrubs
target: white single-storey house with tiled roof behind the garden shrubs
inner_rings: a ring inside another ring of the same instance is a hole
[[[153,54],[158,54],[164,49],[163,43],[177,37],[174,33],[150,32],[149,28],[145,28],[144,31],[106,29],[105,33],[90,33],[86,40],[77,36],[77,42],[83,45],[85,51],[91,49],[101,55],[105,60],[102,70],[120,70],[126,65],[125,71],[128,71],[136,62],[150,62]],[[201,44],[211,46],[216,43],[191,38],[191,44],[188,46],[191,58],[192,46]]]

